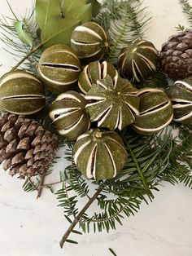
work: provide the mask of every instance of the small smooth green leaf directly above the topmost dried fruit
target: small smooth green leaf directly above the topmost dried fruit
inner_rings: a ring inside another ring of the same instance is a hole
[[[91,20],[92,6],[91,3],[85,4],[82,7],[76,7],[68,12],[66,19],[81,20],[81,23]]]

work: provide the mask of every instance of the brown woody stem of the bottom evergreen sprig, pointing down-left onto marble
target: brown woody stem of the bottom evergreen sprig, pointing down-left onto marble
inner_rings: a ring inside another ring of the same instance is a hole
[[[79,223],[81,217],[83,216],[83,214],[85,214],[85,211],[88,210],[89,206],[98,198],[98,195],[102,192],[102,190],[103,190],[103,188],[98,188],[97,192],[94,193],[94,196],[92,196],[89,199],[89,201],[86,203],[86,205],[80,211],[80,213],[73,220],[72,224],[68,227],[67,232],[65,232],[64,236],[62,237],[62,239],[59,243],[61,248],[63,248],[63,245],[67,241],[68,236],[71,234],[74,227],[76,227],[76,224]]]

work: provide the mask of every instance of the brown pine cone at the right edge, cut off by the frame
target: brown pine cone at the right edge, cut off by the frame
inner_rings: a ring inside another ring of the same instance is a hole
[[[192,75],[192,30],[173,35],[160,52],[165,73],[174,80]]]

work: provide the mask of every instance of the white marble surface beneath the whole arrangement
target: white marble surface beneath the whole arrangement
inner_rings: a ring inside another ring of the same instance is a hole
[[[17,14],[24,14],[31,0],[9,0]],[[192,1],[190,1],[192,3]],[[188,26],[177,0],[144,0],[154,17],[147,31],[148,39],[160,49],[177,24]],[[11,15],[6,0],[0,0],[2,15]],[[9,70],[11,55],[0,49],[0,73]],[[63,170],[60,161],[55,173]],[[54,178],[49,178],[54,179]],[[192,193],[182,185],[164,183],[155,192],[155,201],[142,205],[134,217],[107,234],[77,236],[79,245],[59,249],[59,239],[68,227],[63,210],[53,194],[45,190],[39,200],[34,193],[23,192],[22,182],[0,173],[0,256],[191,256]],[[72,236],[73,238],[73,236]]]

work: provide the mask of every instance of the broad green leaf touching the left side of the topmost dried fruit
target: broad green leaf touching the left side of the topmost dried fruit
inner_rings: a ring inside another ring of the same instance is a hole
[[[45,47],[59,43],[70,45],[72,31],[79,23],[80,20],[52,18],[41,32],[41,42],[45,42]]]

